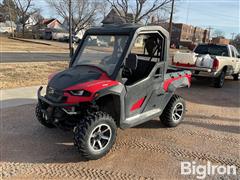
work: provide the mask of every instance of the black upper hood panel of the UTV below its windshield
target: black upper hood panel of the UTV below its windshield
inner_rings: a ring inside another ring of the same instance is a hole
[[[76,84],[81,84],[101,77],[103,72],[91,66],[76,66],[57,73],[49,81],[48,86],[62,90]]]

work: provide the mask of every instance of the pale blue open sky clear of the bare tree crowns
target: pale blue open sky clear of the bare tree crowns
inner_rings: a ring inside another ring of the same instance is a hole
[[[2,0],[0,0],[1,2]],[[56,17],[45,0],[34,0],[44,17]],[[133,1],[133,0],[130,0]],[[150,0],[151,1],[151,0]],[[221,30],[227,38],[240,33],[240,0],[175,0],[174,22]]]

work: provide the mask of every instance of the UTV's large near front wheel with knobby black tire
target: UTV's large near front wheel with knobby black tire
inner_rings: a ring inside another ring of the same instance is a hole
[[[95,112],[84,117],[75,126],[74,144],[86,159],[99,159],[106,155],[116,140],[117,126],[105,112]]]

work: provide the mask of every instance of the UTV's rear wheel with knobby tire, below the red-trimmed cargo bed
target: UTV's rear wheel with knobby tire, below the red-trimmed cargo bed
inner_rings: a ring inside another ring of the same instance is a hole
[[[174,94],[160,116],[161,122],[167,127],[176,127],[184,118],[185,101]]]

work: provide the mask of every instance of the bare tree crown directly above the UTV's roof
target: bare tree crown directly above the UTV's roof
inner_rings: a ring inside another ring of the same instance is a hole
[[[129,21],[129,13],[133,14],[133,23],[138,23],[161,8],[166,8],[172,0],[107,0],[119,15]]]

